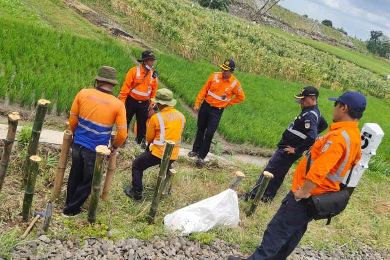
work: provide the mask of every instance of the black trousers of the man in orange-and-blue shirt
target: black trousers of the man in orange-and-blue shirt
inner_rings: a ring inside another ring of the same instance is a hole
[[[96,153],[82,145],[72,146],[72,166],[70,168],[64,213],[76,215],[81,205],[91,193]]]

